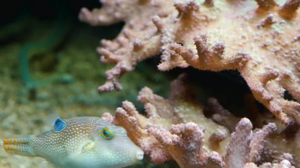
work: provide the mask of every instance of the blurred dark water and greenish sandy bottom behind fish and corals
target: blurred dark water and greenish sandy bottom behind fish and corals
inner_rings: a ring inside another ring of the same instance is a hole
[[[124,23],[106,27],[81,23],[77,17],[82,6],[101,7],[98,0],[10,0],[0,6],[0,136],[43,132],[53,122],[49,121],[53,111],[62,118],[100,117],[104,112],[113,114],[122,101],[129,100],[143,112],[136,100],[140,89],[148,86],[155,94],[168,97],[170,82],[182,72],[197,73],[189,81],[203,103],[215,97],[238,116],[248,112],[243,99],[251,92],[237,71],[175,68],[160,72],[157,57],[124,74],[120,79],[123,90],[99,93],[99,84],[106,81],[105,71],[113,65],[99,60],[96,47],[101,39],[115,38]],[[0,150],[1,168],[42,168],[43,161]],[[172,161],[155,165],[145,156],[135,167],[178,166]]]

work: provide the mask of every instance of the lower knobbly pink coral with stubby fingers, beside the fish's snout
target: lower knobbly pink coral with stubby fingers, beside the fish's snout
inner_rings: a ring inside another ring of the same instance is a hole
[[[256,168],[264,159],[265,140],[275,132],[276,125],[269,123],[252,131],[249,119],[226,114],[232,123],[224,125],[236,125],[229,136],[226,127],[203,115],[202,105],[190,95],[194,91],[186,80],[186,75],[181,75],[172,82],[168,99],[143,88],[138,100],[145,105],[148,117],[137,112],[131,102],[124,101],[114,117],[105,113],[103,118],[124,127],[130,139],[155,163],[173,159],[181,168]],[[271,144],[270,140],[267,142]],[[289,157],[273,157],[273,165],[264,163],[261,167],[293,168],[293,157],[285,155]]]

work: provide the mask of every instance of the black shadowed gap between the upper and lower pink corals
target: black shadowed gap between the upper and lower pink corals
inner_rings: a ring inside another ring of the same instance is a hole
[[[202,102],[215,97],[225,109],[238,116],[249,113],[245,109],[245,95],[251,94],[251,90],[237,71],[213,72],[187,68],[184,72],[189,74],[189,81]]]

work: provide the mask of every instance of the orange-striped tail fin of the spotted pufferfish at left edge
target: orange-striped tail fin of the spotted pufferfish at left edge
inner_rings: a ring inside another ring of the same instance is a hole
[[[1,140],[0,144],[6,153],[34,157],[36,155],[32,147],[32,142],[32,136],[20,136],[5,138]]]

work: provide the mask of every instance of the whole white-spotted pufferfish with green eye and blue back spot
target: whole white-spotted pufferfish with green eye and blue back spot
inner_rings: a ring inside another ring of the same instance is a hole
[[[42,157],[59,168],[123,168],[144,157],[124,128],[99,117],[57,118],[48,132],[2,143],[7,153]]]

